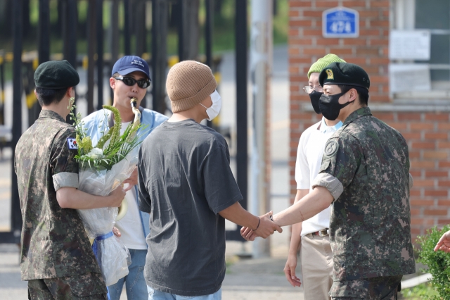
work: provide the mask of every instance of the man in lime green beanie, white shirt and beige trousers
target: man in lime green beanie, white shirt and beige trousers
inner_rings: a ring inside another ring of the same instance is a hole
[[[335,54],[327,54],[311,65],[308,71],[308,83],[304,87],[311,99],[316,113],[321,113],[319,99],[323,95],[323,87],[319,83],[321,70],[330,63],[344,60]],[[300,201],[312,191],[311,182],[319,174],[325,144],[333,133],[342,127],[340,120],[321,120],[308,127],[302,133],[297,149],[295,163],[295,182],[297,194],[294,203]],[[303,287],[305,300],[329,300],[328,292],[333,285],[333,260],[330,238],[330,206],[314,217],[293,225],[290,238],[288,260],[284,273],[288,282],[294,287]],[[297,267],[297,251],[300,249],[302,265],[302,282],[295,275]]]

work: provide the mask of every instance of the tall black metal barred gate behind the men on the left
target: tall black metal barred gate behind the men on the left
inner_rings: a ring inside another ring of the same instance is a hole
[[[237,112],[237,134],[236,134],[236,162],[238,165],[236,180],[244,199],[241,201],[243,208],[247,208],[248,195],[248,149],[247,149],[247,1],[236,1],[236,112]],[[84,98],[87,101],[88,113],[100,109],[103,105],[105,95],[103,95],[103,78],[110,77],[110,70],[113,63],[120,57],[119,37],[120,32],[118,22],[113,22],[113,38],[111,40],[110,53],[103,51],[104,30],[103,30],[103,3],[110,2],[112,6],[113,18],[118,19],[119,2],[124,5],[124,55],[131,55],[130,44],[131,35],[135,36],[136,53],[148,61],[152,73],[151,96],[146,96],[142,106],[150,107],[154,111],[166,113],[170,106],[165,92],[165,79],[167,68],[178,61],[195,59],[202,61],[212,68],[214,75],[219,79],[217,73],[220,57],[212,56],[212,0],[205,0],[206,26],[205,26],[205,56],[192,57],[189,54],[189,43],[191,41],[192,30],[189,28],[190,5],[188,0],[95,0],[87,1],[88,8],[88,54],[77,56],[76,49],[76,25],[77,25],[77,0],[61,1],[63,4],[63,54],[50,54],[50,8],[49,0],[39,0],[39,26],[38,26],[38,49],[37,51],[23,54],[23,20],[22,1],[13,1],[13,53],[0,52],[0,149],[11,147],[14,153],[15,145],[22,135],[22,97],[25,92],[28,109],[28,125],[32,125],[40,113],[40,106],[34,96],[34,70],[39,63],[49,60],[68,60],[75,68],[82,67],[87,72],[87,91],[84,94],[77,94],[76,99]],[[146,18],[146,10],[142,9],[146,3],[152,8],[152,27],[150,32],[146,32],[145,26],[139,26]],[[167,58],[167,28],[169,23],[169,7],[172,13],[176,13],[179,49],[178,56]],[[139,8],[139,9],[138,9]],[[131,14],[133,13],[133,15]],[[138,30],[131,32],[131,22],[136,22]],[[150,54],[145,51],[146,38],[152,40]],[[12,63],[13,69],[13,124],[12,128],[4,126],[4,90],[5,90],[5,63]],[[105,72],[106,70],[106,72]],[[97,106],[94,109],[94,91],[96,91]],[[148,93],[150,94],[150,93]],[[112,98],[112,96],[111,96]],[[146,100],[148,100],[146,102]],[[151,105],[150,105],[151,104]],[[69,121],[69,120],[68,120]],[[208,125],[215,127],[214,124]],[[216,127],[220,132],[220,128]],[[229,130],[221,132],[223,135],[230,135]],[[11,163],[12,160],[11,160]],[[20,201],[18,197],[17,177],[14,168],[11,168],[11,230],[0,232],[1,243],[20,243],[20,233],[22,228],[22,216],[20,212]],[[226,239],[244,241],[240,236],[240,231],[227,231]]]

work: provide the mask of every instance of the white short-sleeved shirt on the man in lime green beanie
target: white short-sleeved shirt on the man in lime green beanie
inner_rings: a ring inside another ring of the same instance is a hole
[[[323,149],[333,133],[342,127],[342,122],[334,126],[327,126],[324,118],[319,123],[304,130],[300,137],[295,163],[295,181],[297,189],[312,191],[311,182],[319,174],[321,168]],[[326,208],[314,217],[304,220],[301,235],[323,230],[330,226],[330,208]]]

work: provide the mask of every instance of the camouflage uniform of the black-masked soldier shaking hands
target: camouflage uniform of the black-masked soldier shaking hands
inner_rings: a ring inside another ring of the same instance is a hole
[[[330,296],[380,299],[369,295],[375,277],[416,272],[411,180],[404,138],[374,118],[368,107],[350,114],[330,137],[313,182],[313,187],[326,187],[335,199],[330,215],[334,265]]]

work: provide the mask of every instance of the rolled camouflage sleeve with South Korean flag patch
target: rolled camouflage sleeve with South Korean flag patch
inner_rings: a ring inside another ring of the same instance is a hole
[[[55,191],[61,187],[78,188],[78,163],[74,158],[78,151],[73,144],[73,139],[75,139],[73,127],[60,130],[53,139],[50,168]]]

